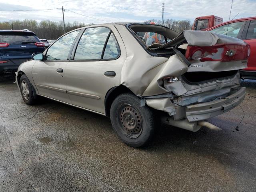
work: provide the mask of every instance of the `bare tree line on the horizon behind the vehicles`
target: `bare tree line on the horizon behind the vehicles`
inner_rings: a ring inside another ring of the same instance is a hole
[[[162,21],[152,19],[145,21],[145,23],[154,22],[155,24],[162,24]],[[74,30],[76,28],[93,25],[93,23],[85,24],[84,22],[73,22],[73,23],[65,23],[66,32]],[[174,20],[167,19],[164,20],[164,26],[168,28],[172,28],[177,32],[182,32],[183,30],[190,30],[191,23],[190,20]],[[43,20],[41,22],[37,22],[36,20],[28,20],[25,19],[23,21],[15,20],[15,21],[6,21],[0,22],[0,30],[3,29],[13,29],[13,30],[22,30],[28,29],[33,31],[39,38],[45,38],[48,40],[55,40],[58,37],[64,34],[63,22],[54,22],[50,20]]]

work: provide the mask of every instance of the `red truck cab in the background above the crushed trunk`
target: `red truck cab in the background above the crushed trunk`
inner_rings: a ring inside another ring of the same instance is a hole
[[[192,26],[192,30],[206,31],[209,28],[221,24],[223,19],[214,15],[197,17]]]

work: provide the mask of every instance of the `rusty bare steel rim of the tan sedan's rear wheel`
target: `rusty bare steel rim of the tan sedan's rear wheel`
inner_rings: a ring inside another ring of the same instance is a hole
[[[136,138],[142,132],[142,118],[139,112],[132,106],[124,104],[119,107],[118,114],[122,126],[122,132],[129,138]]]

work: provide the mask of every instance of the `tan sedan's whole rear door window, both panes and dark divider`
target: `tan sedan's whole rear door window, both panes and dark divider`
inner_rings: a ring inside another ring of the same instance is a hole
[[[112,59],[118,57],[119,54],[120,48],[110,29],[106,27],[87,28],[78,43],[74,60]]]

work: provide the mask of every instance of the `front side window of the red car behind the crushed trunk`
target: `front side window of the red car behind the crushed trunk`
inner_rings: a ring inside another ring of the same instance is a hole
[[[235,23],[222,25],[222,26],[219,26],[219,27],[211,30],[211,32],[215,32],[218,34],[227,35],[227,36],[237,38],[238,34],[242,28],[243,23],[244,22],[241,21],[241,22],[235,22]]]

